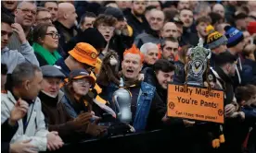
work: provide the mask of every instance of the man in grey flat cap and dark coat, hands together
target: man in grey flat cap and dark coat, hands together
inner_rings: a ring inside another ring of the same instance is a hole
[[[42,90],[39,98],[42,101],[42,111],[45,114],[49,131],[57,131],[58,135],[66,142],[81,140],[98,135],[96,125],[91,124],[91,112],[83,112],[77,116],[70,116],[66,111],[64,93],[59,90],[61,80],[65,75],[53,65],[41,67],[44,76]]]

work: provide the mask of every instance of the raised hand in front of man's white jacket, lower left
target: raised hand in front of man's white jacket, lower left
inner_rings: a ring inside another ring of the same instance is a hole
[[[12,111],[10,112],[9,124],[14,125],[17,121],[25,116],[28,110],[29,104],[19,98],[19,100],[15,103]]]

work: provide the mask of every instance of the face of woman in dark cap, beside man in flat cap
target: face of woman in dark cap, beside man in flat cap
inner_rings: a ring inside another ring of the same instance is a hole
[[[85,96],[91,87],[91,83],[86,77],[83,77],[73,80],[72,87],[76,95]]]

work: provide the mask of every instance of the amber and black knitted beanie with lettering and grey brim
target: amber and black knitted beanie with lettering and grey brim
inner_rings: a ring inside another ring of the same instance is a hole
[[[211,25],[207,26],[206,32],[208,33],[205,41],[207,48],[214,49],[227,43],[226,37],[216,31]]]

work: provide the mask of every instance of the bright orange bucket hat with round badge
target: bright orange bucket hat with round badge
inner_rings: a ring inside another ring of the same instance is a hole
[[[85,65],[96,66],[97,51],[89,43],[80,42],[69,52],[70,55]]]

